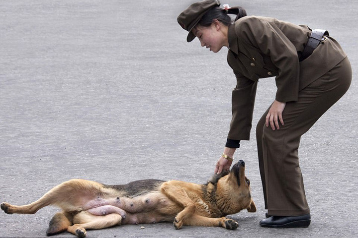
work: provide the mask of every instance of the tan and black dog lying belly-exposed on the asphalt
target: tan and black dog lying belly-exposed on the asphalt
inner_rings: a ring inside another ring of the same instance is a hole
[[[115,225],[173,222],[187,226],[221,226],[234,230],[239,224],[226,215],[243,209],[256,212],[240,160],[230,172],[213,176],[207,184],[179,180],[146,179],[124,185],[72,179],[52,188],[37,201],[23,206],[1,203],[8,214],[34,214],[55,205],[62,209],[52,218],[48,236],[68,231],[80,238],[86,229]]]

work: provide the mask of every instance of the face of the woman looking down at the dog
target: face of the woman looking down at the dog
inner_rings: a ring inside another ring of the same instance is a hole
[[[209,48],[210,51],[217,53],[223,46],[226,46],[227,38],[223,34],[222,25],[213,22],[210,26],[196,26],[193,30],[194,35],[199,39],[202,47]]]

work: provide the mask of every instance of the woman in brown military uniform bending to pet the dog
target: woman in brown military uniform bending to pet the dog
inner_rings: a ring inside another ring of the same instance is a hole
[[[275,18],[246,16],[241,7],[220,8],[219,0],[195,2],[178,16],[202,47],[229,48],[236,76],[232,120],[215,173],[230,168],[240,140],[249,140],[259,78],[275,76],[273,103],[256,128],[266,219],[263,227],[308,227],[311,221],[298,160],[303,135],[348,90],[350,62],[325,30]],[[228,14],[236,14],[234,23]]]

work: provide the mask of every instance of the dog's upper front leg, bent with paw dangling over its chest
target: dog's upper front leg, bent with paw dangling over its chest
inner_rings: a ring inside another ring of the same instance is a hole
[[[169,199],[183,207],[183,210],[178,213],[173,223],[176,229],[180,229],[185,220],[195,213],[195,204],[188,197],[185,190],[180,186],[170,184],[170,182],[165,182],[162,184],[161,189],[163,194],[169,197]]]

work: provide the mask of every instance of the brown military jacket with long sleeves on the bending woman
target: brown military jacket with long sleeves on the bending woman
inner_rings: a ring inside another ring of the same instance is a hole
[[[299,57],[311,29],[270,17],[246,16],[229,26],[227,61],[236,75],[228,139],[249,140],[259,78],[275,76],[279,102],[297,101],[298,92],[347,56],[331,37],[306,60]]]

